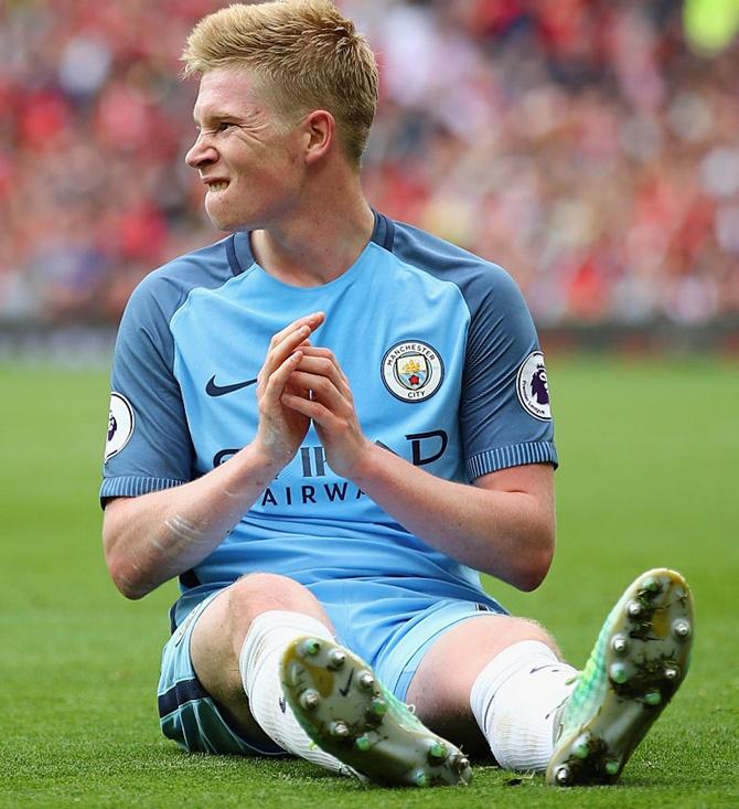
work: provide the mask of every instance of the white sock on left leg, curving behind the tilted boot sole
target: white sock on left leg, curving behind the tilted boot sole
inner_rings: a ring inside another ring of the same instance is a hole
[[[251,715],[261,730],[288,753],[334,773],[353,775],[338,758],[311,742],[285,701],[280,659],[288,643],[304,635],[333,640],[328,627],[301,613],[272,609],[251,621],[238,656],[238,670],[249,698]]]

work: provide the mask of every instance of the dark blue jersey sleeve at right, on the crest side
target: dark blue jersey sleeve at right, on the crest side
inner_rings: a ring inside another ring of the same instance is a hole
[[[500,267],[471,289],[460,427],[474,480],[523,464],[558,464],[546,368],[523,295]]]

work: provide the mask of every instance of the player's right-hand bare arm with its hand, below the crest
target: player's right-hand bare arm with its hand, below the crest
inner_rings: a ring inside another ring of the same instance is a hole
[[[372,444],[349,381],[326,349],[308,348],[292,376],[312,398],[282,401],[310,416],[331,468],[433,547],[521,589],[534,589],[554,552],[554,475],[536,464],[485,475],[474,486],[437,478]]]

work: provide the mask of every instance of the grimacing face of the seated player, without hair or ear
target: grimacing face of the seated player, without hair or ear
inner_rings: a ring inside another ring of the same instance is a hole
[[[299,127],[280,128],[245,71],[203,75],[194,109],[199,136],[185,157],[207,187],[205,210],[222,231],[279,227],[299,202]]]

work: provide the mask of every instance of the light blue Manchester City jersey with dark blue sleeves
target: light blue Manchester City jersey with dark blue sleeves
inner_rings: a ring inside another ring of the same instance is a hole
[[[365,435],[447,480],[557,462],[546,371],[528,309],[500,267],[377,214],[350,269],[292,287],[237,233],[148,276],[126,309],[113,371],[103,499],[193,480],[257,429],[271,337],[321,310],[311,337],[346,374]],[[394,581],[485,603],[479,574],[397,524],[329,467],[311,428],[223,543],[180,577],[174,622],[245,573]]]

